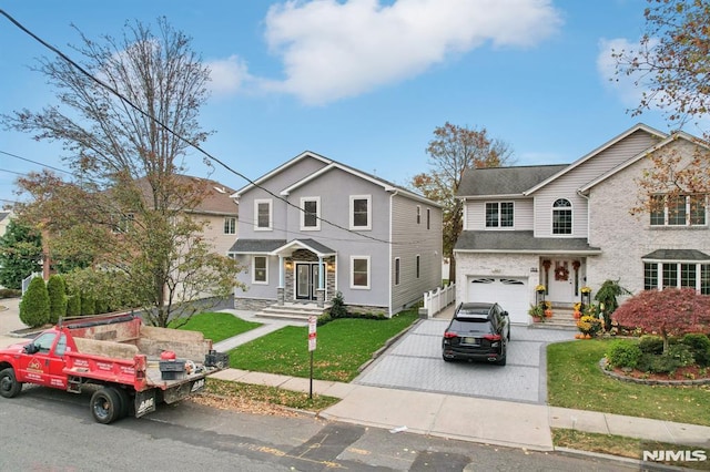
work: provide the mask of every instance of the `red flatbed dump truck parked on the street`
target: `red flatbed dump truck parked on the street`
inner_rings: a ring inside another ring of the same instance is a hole
[[[131,314],[78,317],[0,349],[0,396],[17,396],[23,383],[73,393],[98,386],[91,413],[108,424],[183,400],[226,366],[201,332],[144,326]]]

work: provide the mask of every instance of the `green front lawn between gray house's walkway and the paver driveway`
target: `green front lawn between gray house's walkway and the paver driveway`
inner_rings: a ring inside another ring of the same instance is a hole
[[[385,342],[417,319],[408,310],[385,320],[336,319],[317,328],[313,378],[349,382]],[[307,327],[288,326],[230,351],[236,369],[310,377]]]

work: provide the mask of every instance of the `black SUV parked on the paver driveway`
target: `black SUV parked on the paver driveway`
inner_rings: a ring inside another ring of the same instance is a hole
[[[506,365],[510,321],[498,304],[460,304],[444,331],[444,360],[486,360]]]

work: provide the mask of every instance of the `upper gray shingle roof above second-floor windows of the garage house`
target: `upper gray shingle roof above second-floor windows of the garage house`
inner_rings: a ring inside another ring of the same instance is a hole
[[[469,168],[456,196],[521,195],[569,164]]]

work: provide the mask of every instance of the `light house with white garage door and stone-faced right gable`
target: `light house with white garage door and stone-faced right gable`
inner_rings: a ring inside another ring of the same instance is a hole
[[[659,211],[631,214],[649,198],[638,179],[653,156],[690,161],[700,147],[707,152],[686,133],[639,124],[569,165],[468,172],[457,195],[465,207],[454,250],[457,300],[499,301],[513,322],[527,324],[538,285],[560,307],[579,301],[585,286],[594,297],[607,279],[635,293],[710,294],[707,195],[680,195]]]

